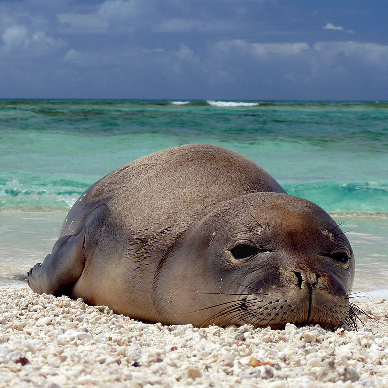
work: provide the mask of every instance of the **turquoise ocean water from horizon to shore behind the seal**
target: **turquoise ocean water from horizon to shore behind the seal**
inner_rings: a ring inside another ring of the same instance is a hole
[[[355,290],[388,288],[388,102],[0,100],[0,285],[50,253],[76,199],[143,155],[238,151],[342,224]]]

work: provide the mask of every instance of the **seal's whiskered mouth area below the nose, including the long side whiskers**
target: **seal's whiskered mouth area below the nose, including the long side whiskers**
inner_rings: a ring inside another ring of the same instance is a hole
[[[214,295],[214,293],[205,295],[210,294]],[[249,324],[254,327],[284,330],[287,323],[292,323],[297,327],[319,325],[328,330],[335,330],[338,327],[357,330],[357,321],[361,322],[360,316],[367,315],[349,302],[348,295],[335,295],[318,284],[308,284],[303,278],[298,286],[294,287],[272,285],[255,292],[252,290],[247,292],[244,288],[237,294],[217,295],[230,296],[233,299],[229,301],[224,299],[216,305],[186,312],[199,314],[196,326]],[[204,317],[203,312],[209,314]]]

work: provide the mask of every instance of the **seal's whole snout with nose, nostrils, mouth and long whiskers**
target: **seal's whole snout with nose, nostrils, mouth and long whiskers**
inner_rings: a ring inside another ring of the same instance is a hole
[[[292,323],[299,327],[320,325],[333,330],[343,326],[357,330],[360,310],[349,302],[349,295],[335,277],[303,269],[279,274],[260,282],[249,283],[247,279],[248,285],[239,284],[237,293],[205,293],[222,295],[222,299],[190,313],[198,313],[201,327],[250,324],[283,330]],[[208,314],[204,316],[204,312]]]

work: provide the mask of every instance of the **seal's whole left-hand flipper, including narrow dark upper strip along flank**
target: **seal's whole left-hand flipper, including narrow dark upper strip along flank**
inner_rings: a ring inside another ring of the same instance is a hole
[[[98,243],[99,221],[106,210],[105,204],[94,208],[85,217],[81,232],[60,237],[43,264],[38,263],[30,269],[27,283],[33,291],[70,295],[72,286],[82,275],[86,257],[92,255]]]

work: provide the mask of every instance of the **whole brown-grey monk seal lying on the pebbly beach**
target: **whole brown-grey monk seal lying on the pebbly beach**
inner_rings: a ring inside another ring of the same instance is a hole
[[[319,206],[231,150],[191,144],[137,159],[70,209],[37,293],[196,326],[356,326],[353,251]]]

